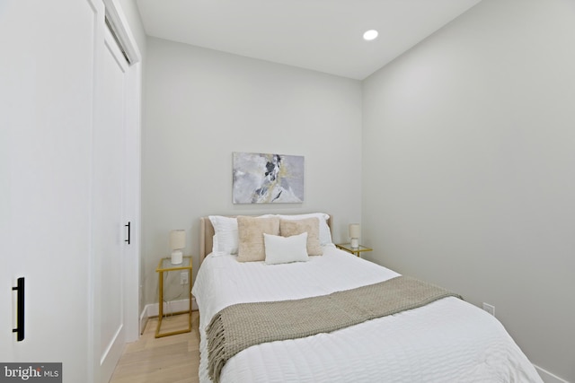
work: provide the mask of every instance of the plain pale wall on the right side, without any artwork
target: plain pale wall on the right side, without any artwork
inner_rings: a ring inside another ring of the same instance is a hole
[[[575,381],[575,2],[484,0],[364,82],[376,262],[495,314]]]

